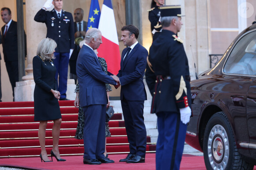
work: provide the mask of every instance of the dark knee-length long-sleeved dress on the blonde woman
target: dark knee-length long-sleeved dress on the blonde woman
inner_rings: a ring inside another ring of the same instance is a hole
[[[55,79],[56,67],[38,55],[33,58],[34,121],[60,119],[60,105],[51,89],[58,89]]]

